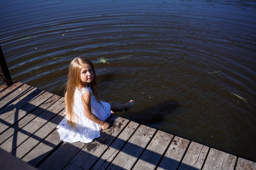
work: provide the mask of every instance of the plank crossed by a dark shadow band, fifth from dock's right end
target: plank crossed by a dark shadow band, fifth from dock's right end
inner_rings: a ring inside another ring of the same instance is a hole
[[[146,151],[140,157],[139,161],[132,168],[133,170],[154,170],[159,163],[162,155],[171,143],[173,135],[160,130],[157,131],[154,138],[146,148]]]

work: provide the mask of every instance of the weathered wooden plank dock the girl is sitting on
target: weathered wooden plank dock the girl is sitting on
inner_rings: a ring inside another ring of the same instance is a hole
[[[94,142],[66,143],[64,99],[27,84],[0,86],[0,167],[40,170],[256,170],[256,163],[113,115]]]

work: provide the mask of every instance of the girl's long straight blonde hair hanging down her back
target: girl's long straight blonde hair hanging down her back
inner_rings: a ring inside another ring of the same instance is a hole
[[[65,96],[66,96],[66,102],[65,102],[65,108],[66,108],[66,115],[67,115],[67,123],[72,127],[76,127],[75,122],[75,116],[76,114],[73,111],[73,105],[74,105],[74,93],[76,88],[81,88],[83,86],[83,82],[80,78],[80,72],[81,68],[84,64],[88,64],[92,67],[92,71],[94,73],[94,78],[92,79],[92,82],[90,83],[90,88],[92,89],[92,95],[94,95],[97,99],[97,101],[101,104],[99,95],[98,95],[98,86],[97,86],[97,80],[96,80],[96,73],[94,70],[94,66],[90,60],[87,60],[83,57],[76,57],[72,62],[70,63],[70,66],[68,68],[68,78],[65,88]]]

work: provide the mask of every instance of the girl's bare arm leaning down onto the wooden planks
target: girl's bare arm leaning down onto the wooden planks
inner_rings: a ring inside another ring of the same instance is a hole
[[[90,119],[91,121],[101,125],[102,129],[107,129],[109,128],[110,124],[106,121],[103,121],[99,119],[97,116],[92,114],[91,110],[91,93],[90,92],[85,92],[82,95],[82,101],[83,101],[83,108],[85,111],[85,116]]]

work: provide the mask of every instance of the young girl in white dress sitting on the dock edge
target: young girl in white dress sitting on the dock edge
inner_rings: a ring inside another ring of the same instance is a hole
[[[100,130],[109,128],[105,120],[110,113],[128,111],[135,104],[102,102],[98,96],[95,70],[92,62],[76,57],[69,66],[65,91],[65,118],[58,124],[58,133],[63,141],[84,143],[100,137]]]

